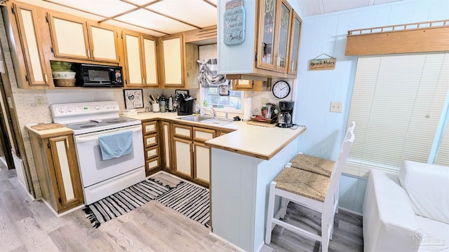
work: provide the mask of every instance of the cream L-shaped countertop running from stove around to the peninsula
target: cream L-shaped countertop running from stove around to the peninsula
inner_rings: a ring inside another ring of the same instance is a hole
[[[232,151],[242,155],[260,158],[262,160],[271,159],[276,153],[279,153],[279,151],[306,130],[306,127],[302,126],[292,130],[291,128],[248,125],[243,121],[229,123],[227,125],[210,125],[208,123],[180,120],[178,118],[183,116],[177,116],[176,113],[147,112],[138,113],[137,116],[126,117],[137,120],[165,119],[188,125],[234,130],[221,137],[206,141],[206,145],[213,148],[220,148],[225,151]]]

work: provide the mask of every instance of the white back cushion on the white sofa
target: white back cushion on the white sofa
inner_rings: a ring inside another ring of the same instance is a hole
[[[449,224],[449,167],[404,161],[399,181],[415,214]]]

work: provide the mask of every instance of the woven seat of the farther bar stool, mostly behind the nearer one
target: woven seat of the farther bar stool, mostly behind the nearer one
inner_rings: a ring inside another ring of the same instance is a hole
[[[290,161],[291,167],[313,172],[330,178],[335,161],[326,160],[306,154],[298,154]]]

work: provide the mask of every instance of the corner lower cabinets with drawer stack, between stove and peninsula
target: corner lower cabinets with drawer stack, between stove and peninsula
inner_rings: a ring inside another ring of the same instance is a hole
[[[210,183],[210,148],[204,142],[232,132],[170,120],[144,121],[142,128],[147,176],[163,170],[205,187]]]

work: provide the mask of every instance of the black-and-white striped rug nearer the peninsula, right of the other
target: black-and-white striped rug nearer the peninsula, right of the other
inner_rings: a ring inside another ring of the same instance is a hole
[[[182,181],[156,200],[206,227],[210,226],[209,190],[206,188]]]

